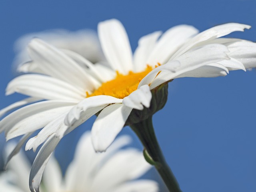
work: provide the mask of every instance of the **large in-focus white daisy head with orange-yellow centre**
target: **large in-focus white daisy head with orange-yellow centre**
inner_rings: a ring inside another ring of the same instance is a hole
[[[170,80],[225,76],[229,70],[255,67],[255,43],[219,38],[245,28],[250,26],[228,23],[197,34],[198,30],[192,26],[175,26],[162,36],[161,32],[143,36],[132,56],[122,24],[118,20],[107,20],[98,25],[98,35],[109,67],[93,65],[76,52],[63,52],[33,39],[28,46],[32,61],[26,65],[33,66],[28,67],[29,72],[40,74],[19,76],[6,88],[7,95],[18,92],[30,98],[0,111],[4,114],[35,102],[0,122],[0,132],[5,131],[7,140],[24,135],[10,157],[30,134],[43,128],[26,144],[26,150],[36,150],[44,143],[31,170],[31,178],[40,181],[60,139],[94,114],[98,117],[92,127],[92,142],[96,151],[106,150],[133,109],[133,112],[148,110],[148,115],[160,109],[152,105],[162,102],[155,93]]]

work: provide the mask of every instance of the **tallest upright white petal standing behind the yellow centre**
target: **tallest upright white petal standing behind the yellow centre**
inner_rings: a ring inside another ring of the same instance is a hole
[[[126,30],[116,19],[98,24],[98,36],[102,50],[110,66],[122,74],[132,70],[132,50]]]

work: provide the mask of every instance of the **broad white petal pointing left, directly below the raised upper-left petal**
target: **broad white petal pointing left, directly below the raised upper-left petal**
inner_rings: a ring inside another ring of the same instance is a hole
[[[8,83],[6,95],[18,92],[47,100],[82,100],[85,90],[80,90],[62,80],[40,74],[18,76]]]

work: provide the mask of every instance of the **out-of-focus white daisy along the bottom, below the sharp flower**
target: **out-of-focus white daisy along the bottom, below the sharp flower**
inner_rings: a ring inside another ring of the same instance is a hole
[[[134,148],[120,149],[129,142],[130,137],[121,136],[106,153],[96,153],[90,134],[83,134],[64,178],[57,160],[50,158],[40,192],[157,192],[155,181],[134,180],[151,166],[140,151]],[[8,170],[0,175],[0,191],[28,192],[29,172],[30,162],[20,152],[10,160]]]

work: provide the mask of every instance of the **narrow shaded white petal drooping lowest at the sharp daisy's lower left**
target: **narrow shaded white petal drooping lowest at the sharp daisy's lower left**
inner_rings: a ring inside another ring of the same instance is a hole
[[[39,150],[30,171],[29,186],[33,192],[39,192],[39,184],[42,179],[44,168],[52,155],[54,148],[60,142],[60,139],[52,135]]]

